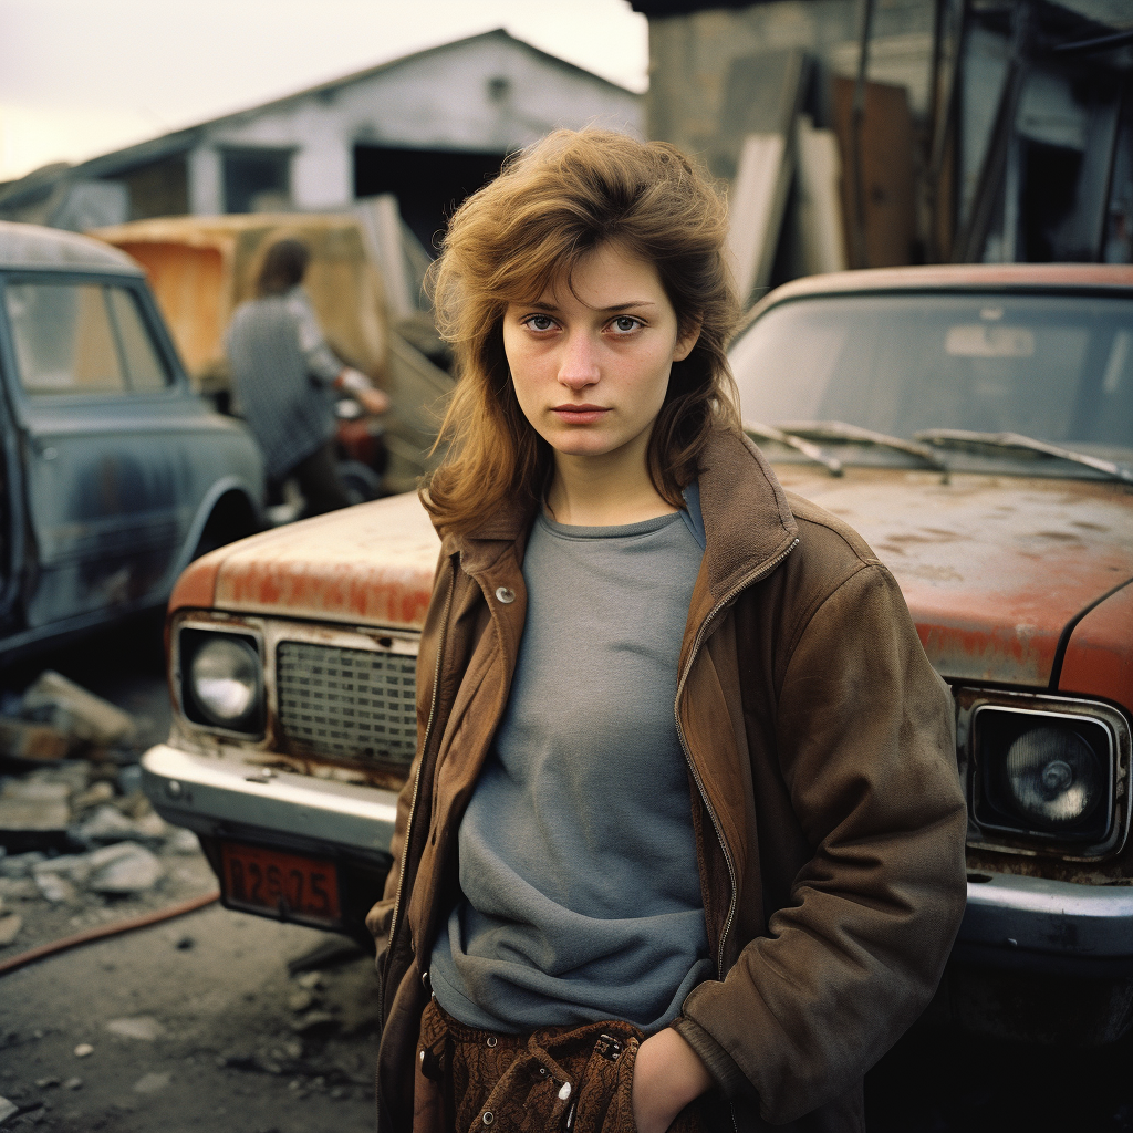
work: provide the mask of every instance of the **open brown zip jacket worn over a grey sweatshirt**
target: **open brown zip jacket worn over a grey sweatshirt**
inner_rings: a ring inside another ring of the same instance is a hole
[[[860,536],[789,502],[735,434],[717,433],[702,465],[707,550],[676,719],[718,978],[674,1025],[739,1131],[860,1130],[862,1075],[928,1003],[963,913],[952,698]],[[370,914],[389,934],[382,1133],[411,1126],[421,968],[458,897],[457,830],[508,701],[529,523],[496,514],[442,543],[391,846],[401,868]]]

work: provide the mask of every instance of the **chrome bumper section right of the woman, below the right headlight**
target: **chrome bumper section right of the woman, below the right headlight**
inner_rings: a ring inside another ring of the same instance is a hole
[[[1007,874],[968,883],[953,956],[1064,974],[1133,972],[1133,887]]]

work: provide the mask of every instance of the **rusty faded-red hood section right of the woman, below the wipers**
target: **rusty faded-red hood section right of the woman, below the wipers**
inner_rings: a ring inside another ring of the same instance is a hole
[[[1133,495],[1084,479],[776,466],[893,571],[953,680],[1046,687],[1067,623],[1133,577]]]

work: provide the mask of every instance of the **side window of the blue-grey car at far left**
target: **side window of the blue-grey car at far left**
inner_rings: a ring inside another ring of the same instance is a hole
[[[5,304],[19,380],[28,393],[120,394],[168,384],[136,300],[126,288],[9,283]]]

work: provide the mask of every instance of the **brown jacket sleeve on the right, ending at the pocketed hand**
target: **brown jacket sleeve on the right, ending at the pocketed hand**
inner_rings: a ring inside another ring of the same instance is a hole
[[[725,1092],[753,1089],[782,1123],[851,1089],[923,1011],[964,910],[952,698],[876,561],[810,615],[775,735],[812,857],[674,1025]]]

